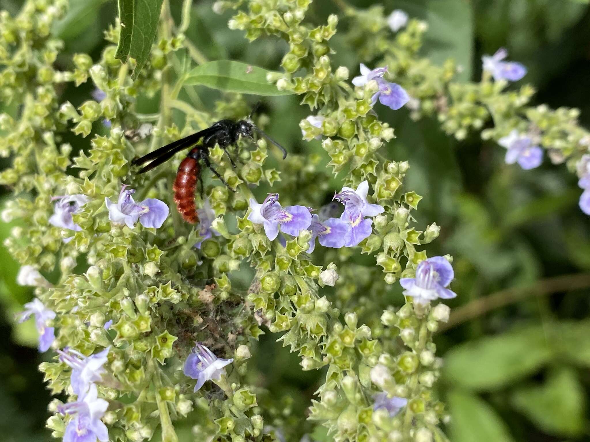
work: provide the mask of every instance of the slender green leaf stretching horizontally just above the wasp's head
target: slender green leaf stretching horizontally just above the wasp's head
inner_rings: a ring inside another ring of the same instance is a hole
[[[203,85],[226,92],[253,95],[290,95],[268,83],[269,71],[239,61],[210,61],[194,68],[185,80],[187,85]]]

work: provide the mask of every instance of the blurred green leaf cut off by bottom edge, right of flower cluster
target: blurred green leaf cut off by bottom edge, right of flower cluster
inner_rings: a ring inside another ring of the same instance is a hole
[[[474,394],[454,390],[448,394],[453,442],[512,442],[507,425],[496,411]]]

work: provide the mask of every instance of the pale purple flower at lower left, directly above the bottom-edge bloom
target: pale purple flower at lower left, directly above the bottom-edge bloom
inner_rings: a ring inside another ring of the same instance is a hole
[[[83,397],[94,382],[100,382],[106,372],[103,365],[107,362],[110,347],[90,356],[84,356],[73,348],[57,350],[60,361],[71,367],[70,383],[72,390],[78,397]]]

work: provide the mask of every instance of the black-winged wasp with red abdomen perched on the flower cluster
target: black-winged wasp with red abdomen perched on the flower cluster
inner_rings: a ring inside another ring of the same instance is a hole
[[[133,160],[132,164],[139,166],[149,162],[149,164],[137,171],[138,174],[145,173],[165,161],[168,161],[179,151],[192,148],[178,167],[172,190],[174,192],[174,201],[178,213],[181,214],[186,222],[195,224],[199,220],[195,206],[195,187],[197,180],[201,182],[201,192],[203,189],[201,162],[204,163],[205,166],[207,166],[215,176],[225,184],[225,186],[231,189],[218,171],[211,166],[211,161],[209,161],[209,147],[214,147],[215,144],[218,144],[219,147],[224,150],[228,159],[230,159],[232,167],[236,167],[235,161],[232,159],[227,148],[232,144],[235,144],[240,137],[253,140],[255,133],[263,136],[270,141],[270,143],[274,144],[274,146],[278,147],[278,149],[283,152],[283,160],[287,157],[287,151],[284,147],[256,127],[250,117],[248,117],[247,119],[240,121],[219,120],[211,127],[198,131],[188,137],[181,138],[180,140],[167,144],[164,147],[160,147],[160,149],[156,149],[141,158]]]

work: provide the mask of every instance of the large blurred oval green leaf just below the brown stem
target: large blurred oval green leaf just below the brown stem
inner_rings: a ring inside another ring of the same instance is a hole
[[[451,349],[444,375],[456,385],[493,390],[535,372],[552,355],[542,326],[529,326]]]

